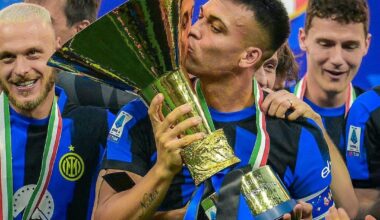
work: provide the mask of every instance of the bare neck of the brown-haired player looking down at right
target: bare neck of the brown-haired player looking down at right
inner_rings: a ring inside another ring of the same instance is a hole
[[[336,108],[346,103],[348,87],[343,92],[326,92],[311,81],[306,80],[305,97],[312,103],[324,108]]]

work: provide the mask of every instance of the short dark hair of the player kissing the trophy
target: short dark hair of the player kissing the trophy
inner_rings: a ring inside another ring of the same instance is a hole
[[[289,16],[279,0],[234,0],[253,11],[255,22],[260,31],[268,37],[265,50],[268,50],[264,60],[271,57],[286,41],[290,33]],[[264,52],[264,51],[263,51]]]

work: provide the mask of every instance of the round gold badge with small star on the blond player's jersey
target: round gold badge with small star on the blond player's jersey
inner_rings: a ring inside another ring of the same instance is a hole
[[[84,173],[84,162],[81,156],[74,153],[74,146],[70,145],[70,153],[64,154],[59,160],[59,172],[69,181],[76,181]]]

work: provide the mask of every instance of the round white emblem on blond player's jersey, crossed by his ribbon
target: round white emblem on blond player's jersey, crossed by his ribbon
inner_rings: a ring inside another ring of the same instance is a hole
[[[13,218],[16,218],[26,208],[36,185],[26,185],[18,189],[13,195]],[[34,211],[31,219],[51,219],[54,213],[54,200],[46,190],[38,208]]]

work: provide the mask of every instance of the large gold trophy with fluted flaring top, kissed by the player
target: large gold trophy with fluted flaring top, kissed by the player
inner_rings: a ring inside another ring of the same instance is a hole
[[[51,57],[49,65],[132,90],[148,103],[162,93],[164,115],[190,103],[192,111],[180,120],[200,116],[203,123],[185,134],[204,132],[206,137],[186,146],[181,155],[198,185],[240,160],[223,130],[211,129],[211,117],[202,110],[188,74],[180,65],[186,52],[180,48],[187,40],[180,37],[184,22],[181,15],[185,10],[191,14],[191,7],[185,7],[188,1],[193,3],[193,0],[130,0],[74,36]]]

